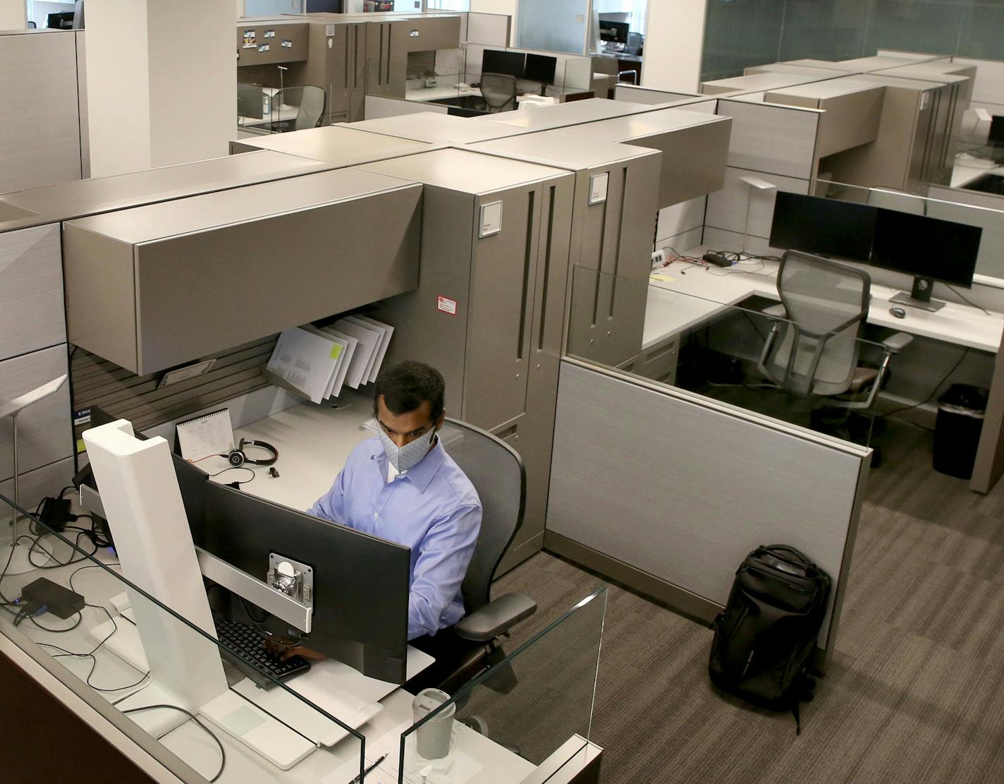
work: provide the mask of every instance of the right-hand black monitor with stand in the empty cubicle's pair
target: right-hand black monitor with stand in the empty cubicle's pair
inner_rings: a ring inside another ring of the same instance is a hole
[[[972,286],[982,228],[909,212],[877,212],[870,263],[914,275],[911,295],[897,295],[893,302],[938,310],[944,303],[931,300],[933,281]]]

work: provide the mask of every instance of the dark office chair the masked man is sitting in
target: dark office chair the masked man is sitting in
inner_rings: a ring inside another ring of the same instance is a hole
[[[472,678],[505,657],[499,637],[537,610],[537,603],[521,593],[490,598],[492,580],[502,556],[523,525],[526,507],[526,470],[512,447],[485,430],[447,419],[461,438],[446,446],[481,499],[481,533],[461,587],[466,615],[453,627],[459,639],[456,654],[439,657],[427,684],[453,695]],[[485,684],[506,693],[515,685],[511,671],[490,677]]]

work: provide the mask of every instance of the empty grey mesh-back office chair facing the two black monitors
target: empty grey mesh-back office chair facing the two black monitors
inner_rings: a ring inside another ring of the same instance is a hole
[[[896,333],[882,342],[878,367],[858,364],[857,340],[868,315],[871,278],[863,269],[789,250],[777,270],[781,305],[764,311],[778,318],[757,367],[792,395],[827,407],[867,409],[874,402],[892,356],[913,337]]]

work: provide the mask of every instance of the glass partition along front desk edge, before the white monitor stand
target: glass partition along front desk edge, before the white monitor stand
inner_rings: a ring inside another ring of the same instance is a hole
[[[341,771],[347,782],[361,773],[363,736],[294,691],[296,677],[275,680],[254,629],[246,647],[224,643],[154,599],[121,576],[85,515],[56,532],[0,496],[5,527],[12,516],[27,560],[18,568],[9,540],[0,549],[0,634],[181,780],[317,782]]]

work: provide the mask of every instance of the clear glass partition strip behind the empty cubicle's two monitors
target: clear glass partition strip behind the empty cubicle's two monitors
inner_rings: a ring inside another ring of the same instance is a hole
[[[949,189],[939,189],[950,195]],[[915,215],[926,215],[930,218],[962,223],[967,226],[978,226],[983,230],[980,236],[979,253],[976,257],[976,274],[983,277],[997,278],[998,285],[1004,284],[1004,197],[1000,199],[1000,209],[963,204],[947,198],[931,198],[917,196],[912,193],[902,193],[887,188],[863,188],[846,183],[818,180],[815,183],[814,196],[829,199],[851,201],[857,204],[868,204],[872,207],[909,212]],[[949,259],[946,259],[949,263]],[[977,278],[981,282],[988,280]],[[955,293],[965,299],[958,290]]]

